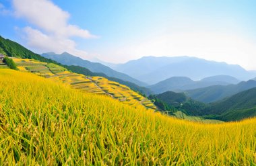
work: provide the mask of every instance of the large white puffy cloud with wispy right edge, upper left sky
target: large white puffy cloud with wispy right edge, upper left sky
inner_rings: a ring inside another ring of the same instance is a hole
[[[97,38],[88,30],[76,25],[68,24],[70,17],[67,11],[49,0],[13,0],[16,17],[26,19],[34,28],[28,26],[23,32],[26,34],[28,46],[40,51],[67,51],[82,58],[90,58],[84,50],[75,48],[75,41],[71,37]]]

